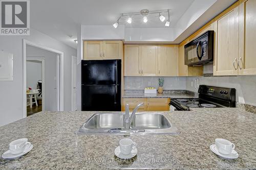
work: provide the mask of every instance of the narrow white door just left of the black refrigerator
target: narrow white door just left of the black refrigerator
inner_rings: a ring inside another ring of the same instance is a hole
[[[77,69],[77,57],[72,56],[72,111],[77,110],[76,103],[76,69]]]

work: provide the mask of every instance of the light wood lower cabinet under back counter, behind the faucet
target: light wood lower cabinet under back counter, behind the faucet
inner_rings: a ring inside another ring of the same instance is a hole
[[[168,111],[169,101],[169,98],[124,98],[123,111],[125,111],[126,104],[129,104],[129,110],[132,111],[142,102],[144,105],[140,106],[138,111]]]

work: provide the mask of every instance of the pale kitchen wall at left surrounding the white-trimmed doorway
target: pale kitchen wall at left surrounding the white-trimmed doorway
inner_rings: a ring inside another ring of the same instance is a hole
[[[64,53],[64,110],[71,110],[71,56],[76,56],[77,51],[34,29],[30,31],[30,36],[0,37],[0,50],[12,53],[14,58],[13,81],[0,82],[0,126],[23,118],[22,39],[27,39]]]

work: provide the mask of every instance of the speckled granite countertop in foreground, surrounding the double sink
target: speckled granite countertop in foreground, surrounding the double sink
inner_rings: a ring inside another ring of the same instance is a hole
[[[114,150],[123,136],[75,135],[96,112],[40,112],[0,127],[0,153],[28,138],[34,148],[18,160],[0,158],[0,169],[255,169],[256,114],[237,108],[164,112],[179,135],[132,135],[135,160],[121,162]],[[215,138],[236,144],[239,158],[223,160],[209,146]]]

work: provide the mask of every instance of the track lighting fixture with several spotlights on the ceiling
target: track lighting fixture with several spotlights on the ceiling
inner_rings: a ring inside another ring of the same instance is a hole
[[[165,21],[165,16],[162,13],[168,13],[168,20],[165,22],[165,26],[169,27],[170,25],[170,20],[169,20],[169,10],[158,10],[158,11],[149,11],[147,9],[143,9],[140,12],[133,12],[133,13],[122,13],[121,16],[117,19],[116,23],[113,24],[114,28],[117,28],[119,25],[119,19],[121,17],[129,17],[126,21],[127,23],[132,23],[132,16],[134,15],[142,15],[143,17],[143,22],[146,23],[148,20],[148,15],[151,14],[158,14],[159,15],[159,19],[161,22]]]

